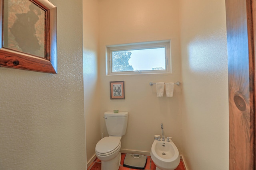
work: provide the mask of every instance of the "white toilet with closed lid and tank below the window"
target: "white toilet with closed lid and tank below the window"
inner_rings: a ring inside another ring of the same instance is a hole
[[[128,112],[107,111],[104,113],[109,137],[104,137],[95,147],[96,156],[101,160],[101,170],[118,170],[121,161],[121,138],[126,133]]]

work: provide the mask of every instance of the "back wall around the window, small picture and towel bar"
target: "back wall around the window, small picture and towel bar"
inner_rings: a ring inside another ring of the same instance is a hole
[[[128,111],[122,150],[149,154],[154,135],[173,137],[181,148],[181,89],[175,86],[172,98],[157,98],[149,82],[176,82],[180,76],[180,28],[177,0],[99,0],[99,66],[101,133],[107,136],[102,118],[105,111]],[[171,39],[172,74],[106,76],[106,45]],[[110,81],[125,81],[125,100],[110,100]]]

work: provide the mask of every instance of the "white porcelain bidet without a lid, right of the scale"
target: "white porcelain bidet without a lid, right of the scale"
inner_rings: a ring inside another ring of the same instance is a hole
[[[169,142],[154,140],[150,156],[156,165],[156,170],[174,170],[180,164],[179,151],[172,140]]]

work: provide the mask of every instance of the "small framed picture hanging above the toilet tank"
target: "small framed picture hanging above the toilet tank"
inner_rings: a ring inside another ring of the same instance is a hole
[[[110,82],[110,99],[125,99],[124,81]]]

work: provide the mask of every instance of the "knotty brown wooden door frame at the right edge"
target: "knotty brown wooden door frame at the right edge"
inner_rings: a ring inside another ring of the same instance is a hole
[[[229,169],[255,170],[256,0],[226,0]]]

